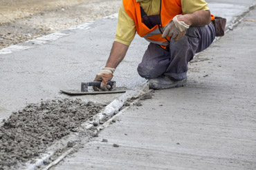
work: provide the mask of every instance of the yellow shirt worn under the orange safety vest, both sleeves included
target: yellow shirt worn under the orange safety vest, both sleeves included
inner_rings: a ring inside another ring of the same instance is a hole
[[[147,15],[160,14],[161,0],[140,1],[140,6]],[[208,3],[204,0],[181,0],[183,14],[192,14],[197,10],[209,10]],[[118,12],[118,25],[116,29],[115,41],[130,45],[136,34],[136,25],[134,20],[129,17],[125,7],[121,4]]]

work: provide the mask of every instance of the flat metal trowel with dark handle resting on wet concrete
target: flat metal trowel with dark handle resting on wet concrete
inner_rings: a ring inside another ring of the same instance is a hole
[[[88,83],[81,83],[81,91],[75,91],[75,90],[60,90],[60,92],[68,95],[85,95],[85,94],[115,94],[115,93],[125,93],[126,91],[123,89],[116,89],[116,81],[108,81],[107,85],[110,87],[106,91],[92,91],[89,92],[88,87],[89,86],[95,86],[95,87],[100,87],[100,81],[92,81]]]

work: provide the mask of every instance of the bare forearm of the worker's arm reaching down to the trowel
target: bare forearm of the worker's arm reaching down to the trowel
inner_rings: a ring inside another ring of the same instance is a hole
[[[111,67],[111,68],[118,67],[122,59],[125,58],[125,54],[128,50],[128,47],[129,47],[128,45],[114,41],[109,59],[107,60],[106,67]]]

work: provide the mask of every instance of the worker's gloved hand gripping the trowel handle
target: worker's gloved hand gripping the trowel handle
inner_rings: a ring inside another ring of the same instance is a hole
[[[94,81],[101,81],[100,89],[106,90],[111,88],[110,85],[107,85],[108,81],[111,81],[113,78],[114,68],[104,67],[95,77]],[[94,91],[99,91],[98,87],[93,86]]]

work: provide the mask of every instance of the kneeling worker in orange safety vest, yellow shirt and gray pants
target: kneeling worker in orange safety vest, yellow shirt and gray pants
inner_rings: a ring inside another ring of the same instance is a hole
[[[107,89],[107,81],[113,78],[137,32],[149,41],[137,69],[149,80],[149,87],[185,85],[188,62],[215,38],[212,19],[204,0],[122,0],[111,54],[94,81],[102,81],[100,89]]]

